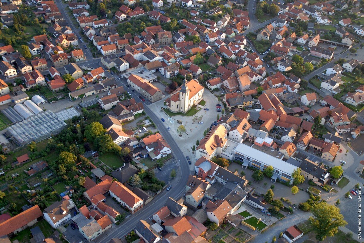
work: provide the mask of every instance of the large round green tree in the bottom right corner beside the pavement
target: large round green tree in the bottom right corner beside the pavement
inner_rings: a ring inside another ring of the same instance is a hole
[[[340,209],[326,202],[317,203],[311,208],[311,212],[313,216],[308,220],[319,241],[324,240],[326,236],[334,236],[338,227],[348,224],[340,214]]]

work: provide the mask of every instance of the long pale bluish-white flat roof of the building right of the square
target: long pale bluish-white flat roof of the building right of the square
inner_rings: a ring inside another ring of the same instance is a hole
[[[246,155],[247,157],[256,161],[263,162],[266,165],[271,165],[273,168],[288,175],[292,175],[293,171],[298,168],[297,166],[291,165],[290,163],[282,161],[276,157],[273,157],[272,155],[266,154],[263,151],[257,150],[243,143],[238,144],[235,152]]]

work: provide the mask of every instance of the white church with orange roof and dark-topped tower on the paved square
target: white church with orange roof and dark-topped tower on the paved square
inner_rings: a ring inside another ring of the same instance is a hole
[[[171,112],[183,112],[186,113],[194,104],[202,99],[203,86],[196,80],[186,81],[183,80],[183,84],[179,86],[171,96],[165,100],[165,105]]]

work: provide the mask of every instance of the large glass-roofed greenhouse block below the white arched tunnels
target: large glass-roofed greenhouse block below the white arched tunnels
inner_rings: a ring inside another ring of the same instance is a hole
[[[58,134],[66,126],[64,121],[48,110],[9,126],[8,134],[13,142],[24,146],[29,142],[39,142]]]

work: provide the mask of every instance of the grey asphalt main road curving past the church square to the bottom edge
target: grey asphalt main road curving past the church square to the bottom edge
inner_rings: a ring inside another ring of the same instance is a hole
[[[112,76],[118,78],[116,74],[112,75],[108,72],[106,73],[106,76],[108,77]],[[125,91],[130,92],[132,94],[132,97],[137,102],[142,102],[141,99],[138,97],[140,96],[139,93],[134,93],[131,91],[132,89],[130,87],[126,87],[125,79],[116,80],[119,87],[123,86]],[[171,190],[163,190],[162,193],[157,195],[157,197],[149,202],[145,207],[136,212],[130,218],[126,219],[123,223],[107,230],[103,235],[100,235],[98,238],[96,238],[95,242],[109,242],[112,238],[124,238],[124,236],[127,235],[135,227],[139,220],[146,220],[148,217],[157,212],[162,206],[164,206],[168,197],[178,199],[185,192],[187,179],[191,173],[185,155],[183,155],[181,149],[179,149],[177,143],[174,141],[173,137],[167,130],[167,127],[165,126],[166,122],[162,122],[161,117],[157,117],[157,115],[147,105],[144,105],[144,110],[154,122],[154,124],[160,124],[158,126],[159,133],[163,136],[163,138],[171,147],[173,157],[176,159],[179,166],[177,177],[170,183],[170,185],[172,185]]]

